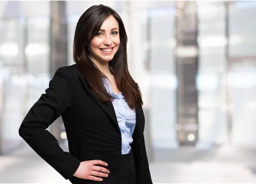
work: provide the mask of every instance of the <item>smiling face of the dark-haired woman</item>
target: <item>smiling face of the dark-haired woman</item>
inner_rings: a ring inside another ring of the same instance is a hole
[[[101,63],[110,61],[116,54],[119,44],[119,25],[117,20],[110,16],[102,23],[99,32],[88,46],[90,57]]]

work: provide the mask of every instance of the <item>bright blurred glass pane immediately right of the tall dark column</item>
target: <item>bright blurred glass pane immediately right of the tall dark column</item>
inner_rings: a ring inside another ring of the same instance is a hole
[[[198,142],[209,150],[227,139],[225,95],[225,7],[224,2],[197,1],[198,17]]]

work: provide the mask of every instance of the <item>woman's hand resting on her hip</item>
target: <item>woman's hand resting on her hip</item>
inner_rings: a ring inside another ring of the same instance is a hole
[[[93,180],[93,181],[103,180],[102,178],[98,178],[96,176],[107,178],[109,174],[109,170],[107,170],[104,167],[100,167],[96,165],[107,166],[108,164],[100,160],[82,161],[78,169],[76,170],[76,172],[73,174],[73,176],[76,176],[77,178]]]

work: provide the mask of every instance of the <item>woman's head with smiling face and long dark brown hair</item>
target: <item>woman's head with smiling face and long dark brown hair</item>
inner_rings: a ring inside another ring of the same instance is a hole
[[[143,105],[140,89],[128,71],[127,35],[116,11],[99,5],[81,15],[75,31],[73,58],[93,94],[102,103],[110,104],[114,99],[102,82],[102,77],[106,77],[113,92],[122,92],[131,109],[136,104]]]

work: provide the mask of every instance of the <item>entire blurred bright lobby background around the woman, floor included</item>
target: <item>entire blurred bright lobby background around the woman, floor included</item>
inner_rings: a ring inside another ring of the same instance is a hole
[[[99,4],[125,24],[153,182],[256,183],[256,1],[0,1],[0,183],[70,183],[18,129]]]

